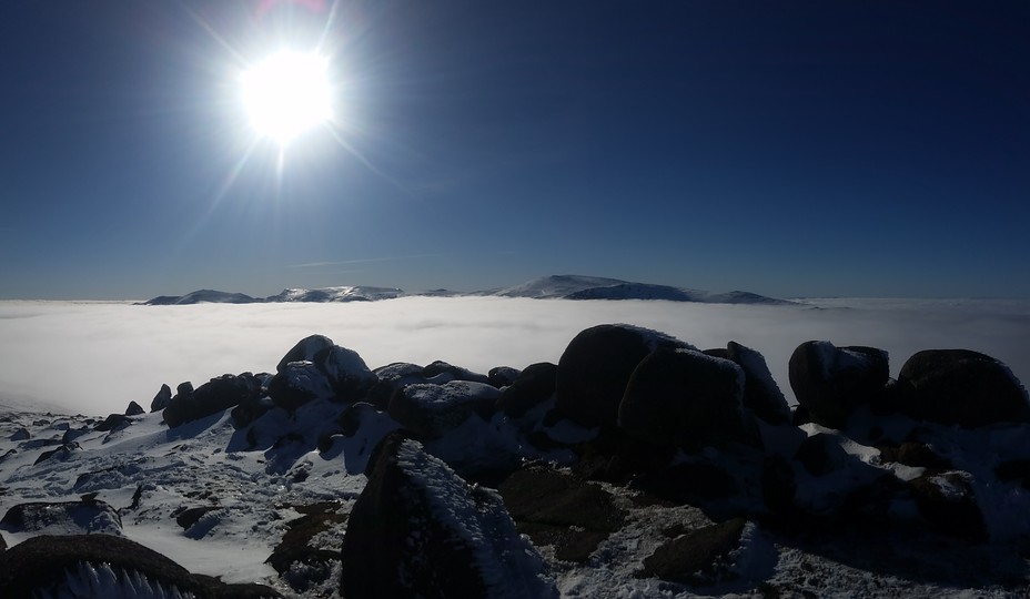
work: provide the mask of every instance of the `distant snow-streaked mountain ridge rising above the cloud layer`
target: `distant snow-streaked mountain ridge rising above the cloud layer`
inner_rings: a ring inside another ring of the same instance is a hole
[[[525,283],[498,290],[462,293],[447,290],[433,290],[422,293],[405,293],[396,287],[339,286],[316,290],[286,288],[269,297],[251,297],[242,293],[228,293],[213,290],[200,290],[186,295],[161,295],[143,302],[149,306],[168,306],[185,304],[255,304],[280,302],[342,303],[375,302],[394,300],[402,296],[498,296],[531,297],[537,300],[662,300],[667,302],[694,302],[704,304],[792,304],[786,300],[766,297],[756,293],[733,291],[711,293],[699,290],[634,283],[618,278],[584,275],[551,275],[534,278]]]

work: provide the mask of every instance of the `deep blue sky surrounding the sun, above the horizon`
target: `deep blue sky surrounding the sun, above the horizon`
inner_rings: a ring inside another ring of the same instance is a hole
[[[1030,296],[1030,3],[0,4],[0,298]],[[330,58],[284,154],[239,73]]]

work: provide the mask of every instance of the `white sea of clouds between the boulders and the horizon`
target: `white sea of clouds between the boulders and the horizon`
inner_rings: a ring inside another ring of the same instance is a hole
[[[891,375],[920,349],[997,357],[1030,383],[1030,301],[806,300],[795,306],[658,301],[402,297],[349,304],[0,302],[0,412],[90,416],[150,407],[166,383],[273,372],[317,333],[372,368],[443,359],[486,373],[557,363],[582,329],[604,323],[655,328],[699,348],[736,341],[761,352],[788,402],[794,349],[809,339],[890,353]]]

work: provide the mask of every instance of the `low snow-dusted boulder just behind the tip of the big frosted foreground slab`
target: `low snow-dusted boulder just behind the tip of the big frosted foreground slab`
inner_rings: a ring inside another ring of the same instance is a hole
[[[387,413],[417,435],[438,437],[473,414],[489,419],[499,397],[501,390],[486,383],[415,384],[394,393]]]

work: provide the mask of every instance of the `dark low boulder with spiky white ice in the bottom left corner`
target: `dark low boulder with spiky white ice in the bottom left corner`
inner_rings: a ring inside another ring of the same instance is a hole
[[[110,535],[41,535],[0,554],[3,597],[137,597],[141,582],[160,597],[282,597],[262,585],[225,585],[191,575],[150,548]]]

